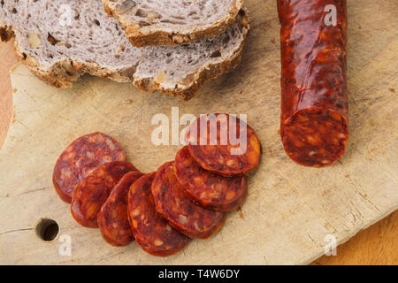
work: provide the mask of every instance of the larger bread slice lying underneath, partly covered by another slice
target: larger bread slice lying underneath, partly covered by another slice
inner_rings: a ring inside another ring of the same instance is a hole
[[[101,0],[0,0],[1,39],[15,36],[15,50],[46,83],[68,88],[90,73],[184,100],[239,64],[249,18],[243,10],[238,18],[215,38],[134,48]]]

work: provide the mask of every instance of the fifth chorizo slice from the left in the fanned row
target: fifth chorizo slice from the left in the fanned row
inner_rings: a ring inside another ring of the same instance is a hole
[[[175,177],[172,162],[162,165],[157,170],[151,190],[157,212],[188,237],[209,238],[224,224],[225,213],[206,210],[189,199]]]

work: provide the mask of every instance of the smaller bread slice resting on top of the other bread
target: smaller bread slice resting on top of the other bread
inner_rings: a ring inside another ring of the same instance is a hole
[[[103,0],[136,47],[179,45],[226,31],[241,10],[241,0]]]

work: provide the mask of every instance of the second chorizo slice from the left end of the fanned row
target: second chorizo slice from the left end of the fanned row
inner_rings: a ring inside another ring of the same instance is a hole
[[[131,171],[138,171],[133,164],[114,161],[99,166],[73,189],[71,212],[73,218],[88,228],[98,227],[97,214],[119,180]]]

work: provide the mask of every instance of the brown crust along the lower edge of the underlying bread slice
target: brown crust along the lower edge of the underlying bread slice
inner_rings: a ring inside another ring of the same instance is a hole
[[[189,73],[187,75],[187,85],[181,87],[176,85],[175,88],[165,88],[161,84],[157,83],[155,78],[137,79],[134,78],[135,67],[132,66],[125,69],[111,70],[109,68],[102,68],[98,65],[73,61],[71,59],[65,59],[52,65],[49,70],[42,70],[38,60],[31,57],[19,48],[18,35],[12,30],[12,27],[0,27],[1,39],[4,42],[11,40],[12,37],[16,37],[14,41],[14,50],[21,57],[22,61],[27,68],[34,73],[36,77],[43,80],[55,88],[72,88],[73,82],[78,80],[80,76],[85,73],[108,78],[118,82],[132,81],[133,84],[146,92],[160,92],[164,96],[180,96],[183,101],[188,101],[203,87],[203,84],[211,79],[217,78],[218,76],[232,71],[241,62],[241,54],[243,47],[249,35],[250,19],[248,12],[245,9],[241,9],[237,20],[240,21],[243,29],[242,35],[243,40],[237,50],[234,51],[233,56],[227,57],[226,60],[218,63],[208,63],[203,65],[195,73]]]

